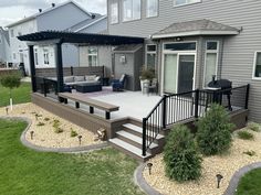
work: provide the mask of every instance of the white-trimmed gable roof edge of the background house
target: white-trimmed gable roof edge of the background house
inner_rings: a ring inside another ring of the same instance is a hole
[[[73,0],[69,0],[69,1],[65,1],[65,2],[63,2],[63,3],[60,3],[60,4],[55,6],[54,8],[52,8],[52,7],[51,7],[51,8],[48,8],[48,9],[45,9],[45,10],[43,10],[42,12],[38,12],[38,13],[31,15],[31,17],[27,17],[27,18],[24,18],[24,19],[22,19],[22,20],[19,20],[19,21],[17,21],[17,22],[14,22],[14,23],[11,23],[11,24],[7,25],[7,28],[12,28],[12,26],[18,25],[18,24],[21,24],[21,23],[23,23],[23,22],[33,20],[33,19],[35,19],[35,18],[38,18],[38,17],[40,17],[40,15],[43,15],[43,14],[50,12],[50,11],[56,10],[56,9],[59,9],[59,8],[63,7],[63,6],[70,4],[70,3],[74,4],[76,8],[79,8],[79,9],[82,10],[83,12],[85,12],[88,17],[92,17],[92,13],[87,12],[87,11],[86,11],[85,9],[83,9],[79,3],[76,3],[76,2],[73,1]]]

